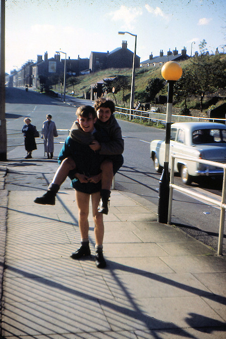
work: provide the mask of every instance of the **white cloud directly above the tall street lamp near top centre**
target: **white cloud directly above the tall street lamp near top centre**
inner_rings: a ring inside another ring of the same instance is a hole
[[[110,12],[113,21],[123,22],[122,27],[132,29],[138,16],[142,15],[140,8],[129,8],[122,5],[118,10]]]

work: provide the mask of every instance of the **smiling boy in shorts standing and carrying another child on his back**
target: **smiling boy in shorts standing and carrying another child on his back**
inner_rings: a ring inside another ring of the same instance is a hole
[[[97,131],[94,127],[96,122],[96,112],[92,106],[80,106],[77,111],[78,128],[75,134],[67,137],[62,147],[58,162],[70,156],[76,163],[76,172],[73,172],[72,187],[76,191],[76,201],[78,206],[78,224],[81,233],[81,247],[71,253],[72,259],[80,259],[90,256],[89,248],[89,199],[92,200],[93,221],[95,224],[95,263],[98,268],[104,268],[106,261],[103,257],[103,237],[104,223],[103,214],[98,213],[101,190],[101,162],[102,157],[98,152],[91,150],[89,144],[96,140],[108,139],[108,134],[104,130]],[[54,186],[54,184],[52,184]],[[58,186],[58,185],[56,185]],[[56,187],[58,189],[58,187]]]

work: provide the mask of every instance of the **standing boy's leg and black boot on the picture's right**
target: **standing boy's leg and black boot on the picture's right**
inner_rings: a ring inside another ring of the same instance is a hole
[[[100,192],[93,193],[92,198],[92,210],[93,220],[95,223],[94,234],[95,234],[95,263],[98,268],[106,267],[106,261],[103,257],[103,238],[104,238],[104,222],[103,214],[98,213],[98,204],[100,201]]]

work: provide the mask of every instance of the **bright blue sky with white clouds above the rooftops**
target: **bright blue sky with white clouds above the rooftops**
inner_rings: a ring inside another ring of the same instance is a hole
[[[203,39],[226,53],[226,0],[5,0],[5,71],[45,52],[89,58],[122,40],[134,51],[135,37],[118,31],[137,35],[141,62],[175,48],[194,55]]]

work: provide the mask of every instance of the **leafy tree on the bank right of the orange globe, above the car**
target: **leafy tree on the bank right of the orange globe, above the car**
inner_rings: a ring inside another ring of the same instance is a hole
[[[200,109],[203,112],[205,95],[226,86],[226,60],[221,60],[220,55],[201,54],[192,59],[191,74],[194,81],[191,92],[200,97]]]

